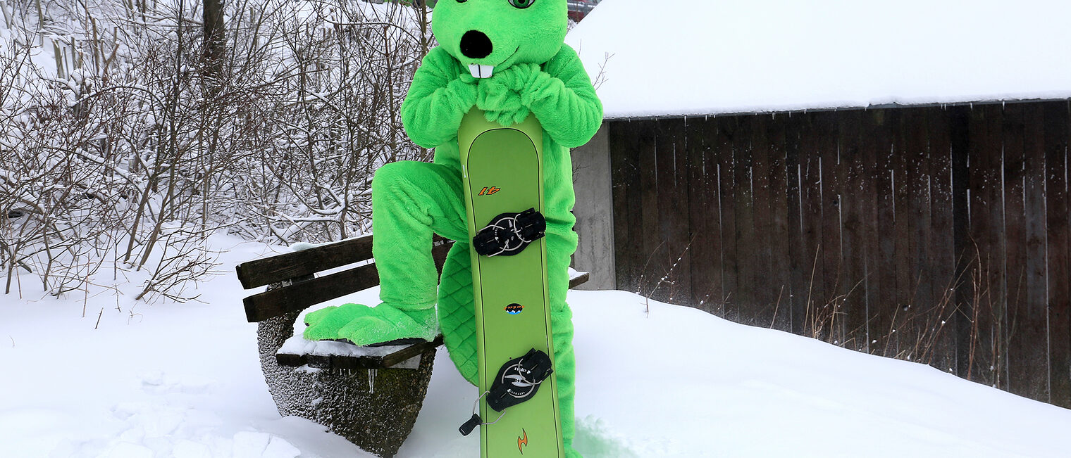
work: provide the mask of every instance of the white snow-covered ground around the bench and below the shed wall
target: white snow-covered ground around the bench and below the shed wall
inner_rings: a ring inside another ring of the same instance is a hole
[[[361,457],[280,418],[235,263],[213,238],[205,304],[0,296],[0,457]],[[278,249],[278,248],[275,248]],[[360,293],[373,301],[375,291]],[[926,366],[743,326],[621,291],[573,291],[576,445],[587,457],[1066,457],[1071,410]],[[131,312],[133,307],[133,314]],[[101,311],[103,309],[103,312]],[[121,311],[120,311],[121,310]],[[100,323],[97,324],[97,319]],[[440,350],[398,456],[473,457],[476,388]]]

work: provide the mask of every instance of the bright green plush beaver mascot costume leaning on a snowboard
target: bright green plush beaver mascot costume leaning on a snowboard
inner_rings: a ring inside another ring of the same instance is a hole
[[[510,126],[534,116],[543,126],[550,323],[567,456],[572,448],[575,362],[565,304],[576,218],[569,148],[602,123],[602,104],[576,51],[563,44],[565,0],[439,0],[424,58],[402,105],[406,133],[435,148],[434,164],[399,162],[373,181],[373,255],[380,277],[376,307],[347,304],[310,314],[305,337],[356,345],[421,338],[441,329],[450,357],[477,384],[477,338],[468,228],[457,129],[473,106]],[[456,243],[437,281],[433,233]],[[436,307],[438,304],[438,307]],[[438,315],[436,315],[436,308]]]

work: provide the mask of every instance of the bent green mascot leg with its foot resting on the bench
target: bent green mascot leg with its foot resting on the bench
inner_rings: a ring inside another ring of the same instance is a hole
[[[429,247],[433,233],[468,238],[461,174],[446,166],[398,162],[380,167],[372,188],[372,250],[382,303],[375,308],[347,304],[325,309],[322,316],[310,314],[306,338],[343,338],[364,346],[431,340],[439,332],[438,275]]]

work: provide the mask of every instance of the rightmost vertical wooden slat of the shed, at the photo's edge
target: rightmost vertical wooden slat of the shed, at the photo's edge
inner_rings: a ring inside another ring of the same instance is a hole
[[[1068,225],[1068,104],[1046,103],[1045,213],[1051,402],[1071,408],[1071,269]]]

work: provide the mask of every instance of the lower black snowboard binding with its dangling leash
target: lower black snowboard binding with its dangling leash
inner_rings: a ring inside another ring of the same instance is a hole
[[[550,368],[550,356],[546,353],[531,349],[527,354],[515,360],[510,360],[498,370],[498,377],[491,385],[491,390],[480,395],[472,406],[472,417],[465,422],[458,431],[462,436],[468,436],[477,426],[494,425],[506,415],[504,410],[531,399],[539,391],[539,386],[545,381],[554,369]],[[487,398],[487,407],[495,412],[502,412],[494,422],[483,423],[477,409],[480,399]]]

